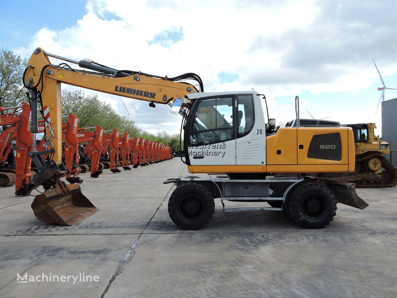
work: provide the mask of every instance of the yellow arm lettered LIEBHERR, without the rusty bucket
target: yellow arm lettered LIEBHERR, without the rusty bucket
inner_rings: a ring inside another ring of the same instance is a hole
[[[55,65],[49,57],[58,58],[69,63],[78,64],[89,70],[71,68],[67,63]],[[92,72],[90,70],[96,70]],[[202,81],[198,75],[184,74],[178,77],[160,77],[144,74],[142,72],[118,71],[97,64],[91,60],[79,62],[48,54],[41,48],[37,48],[29,59],[24,74],[24,83],[27,89],[32,91],[31,99],[41,101],[41,112],[46,122],[46,134],[51,136],[54,147],[52,160],[60,165],[62,162],[62,120],[61,120],[61,83],[83,87],[94,91],[119,95],[131,99],[139,99],[155,103],[168,104],[178,102],[179,106],[187,104],[185,94],[202,91]],[[191,84],[178,80],[195,79],[200,89]],[[32,103],[33,103],[32,101]],[[34,107],[33,107],[34,109]],[[32,109],[32,110],[33,110]],[[176,113],[179,112],[179,108]],[[32,132],[35,133],[35,119],[32,118]]]

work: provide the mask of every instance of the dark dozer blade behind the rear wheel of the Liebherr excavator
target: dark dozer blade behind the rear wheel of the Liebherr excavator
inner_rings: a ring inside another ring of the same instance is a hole
[[[356,185],[349,182],[327,180],[327,186],[333,192],[338,203],[364,209],[369,205],[356,193]]]

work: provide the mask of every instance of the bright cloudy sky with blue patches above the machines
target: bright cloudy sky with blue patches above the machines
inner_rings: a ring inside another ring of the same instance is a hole
[[[397,88],[397,1],[3,0],[1,46],[36,47],[116,69],[176,76],[195,72],[204,91],[264,93],[276,123],[295,116],[376,122],[382,83]],[[55,61],[53,61],[55,62]],[[63,88],[75,89],[64,85]],[[85,90],[87,94],[93,91]],[[120,114],[119,97],[100,93]],[[397,97],[386,90],[385,100]],[[126,99],[140,128],[179,132],[169,106]]]

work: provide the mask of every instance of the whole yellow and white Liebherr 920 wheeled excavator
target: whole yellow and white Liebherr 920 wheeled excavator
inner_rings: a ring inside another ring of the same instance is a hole
[[[52,64],[51,57],[63,62]],[[151,107],[169,104],[173,114],[183,116],[185,160],[181,159],[191,174],[205,173],[209,177],[164,181],[177,186],[168,201],[168,213],[180,228],[195,230],[208,224],[215,210],[214,198],[220,198],[223,206],[227,201],[257,202],[266,205],[248,210],[285,210],[304,228],[328,225],[337,203],[358,209],[368,206],[356,194],[354,183],[304,174],[353,172],[355,139],[350,127],[301,127],[299,97],[295,98],[296,124],[266,136],[269,117],[265,119],[262,109],[264,95],[253,90],[204,92],[201,78],[193,73],[162,77],[116,70],[93,60],[75,61],[36,48],[25,70],[24,84],[30,90],[31,132],[38,131],[40,102],[40,112],[48,124],[46,136],[52,143],[47,163],[40,161],[41,153],[35,146],[29,152],[38,168],[35,186],[43,185],[45,189],[32,203],[39,220],[70,225],[98,210],[81,193],[79,185],[66,185],[60,180],[66,173],[61,160],[62,84],[146,101]],[[267,108],[266,112],[268,115]],[[126,133],[124,143],[128,145]],[[159,152],[159,160],[170,158],[164,145]],[[268,202],[276,207],[266,207]],[[70,219],[65,219],[65,213]]]

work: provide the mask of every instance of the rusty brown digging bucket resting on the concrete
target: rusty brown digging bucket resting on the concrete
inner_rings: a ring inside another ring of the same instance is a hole
[[[37,195],[31,205],[39,221],[73,226],[99,209],[81,193],[78,184],[58,180],[56,188]]]

